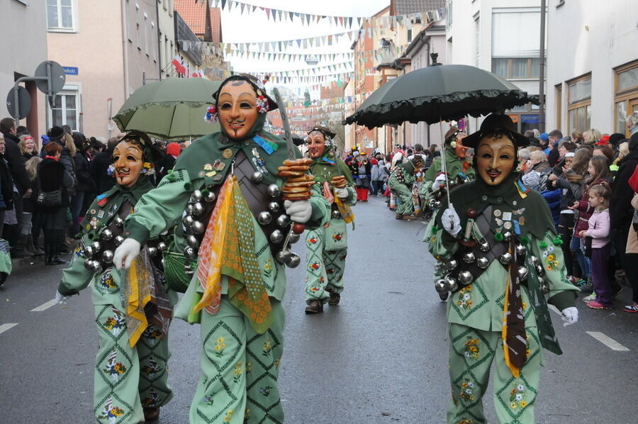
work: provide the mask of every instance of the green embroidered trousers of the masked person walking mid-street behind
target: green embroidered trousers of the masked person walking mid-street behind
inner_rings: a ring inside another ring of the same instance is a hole
[[[332,219],[328,228],[306,233],[306,303],[325,303],[330,291],[343,291],[343,273],[348,255],[345,222]]]

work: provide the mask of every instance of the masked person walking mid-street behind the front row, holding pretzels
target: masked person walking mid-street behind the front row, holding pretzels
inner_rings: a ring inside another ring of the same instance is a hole
[[[347,256],[346,224],[354,221],[349,206],[357,203],[357,193],[347,165],[335,157],[332,133],[315,126],[308,132],[308,154],[323,196],[331,204],[330,223],[306,233],[306,313],[323,312],[323,303],[339,304]]]

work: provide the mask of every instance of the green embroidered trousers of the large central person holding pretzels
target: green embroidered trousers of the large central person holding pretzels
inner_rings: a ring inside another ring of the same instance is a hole
[[[222,295],[218,313],[201,312],[201,376],[191,424],[283,424],[277,377],[284,351],[284,308],[270,298],[274,323],[257,334]]]

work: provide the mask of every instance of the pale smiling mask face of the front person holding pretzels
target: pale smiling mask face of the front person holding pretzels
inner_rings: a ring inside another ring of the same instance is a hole
[[[233,140],[247,137],[257,121],[257,94],[242,80],[230,80],[222,87],[217,99],[219,121]]]

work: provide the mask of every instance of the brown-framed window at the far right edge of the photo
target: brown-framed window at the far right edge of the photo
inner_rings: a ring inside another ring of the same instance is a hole
[[[617,67],[614,71],[614,130],[629,137],[625,119],[627,115],[638,112],[638,60]]]

